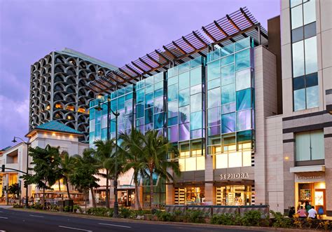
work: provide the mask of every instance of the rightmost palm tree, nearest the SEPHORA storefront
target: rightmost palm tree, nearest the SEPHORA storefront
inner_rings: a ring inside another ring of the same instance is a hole
[[[153,208],[153,172],[167,180],[173,179],[167,169],[172,169],[176,175],[180,173],[179,163],[167,160],[170,152],[179,153],[166,137],[158,135],[158,131],[146,132],[144,135],[144,162],[150,179],[151,208]]]

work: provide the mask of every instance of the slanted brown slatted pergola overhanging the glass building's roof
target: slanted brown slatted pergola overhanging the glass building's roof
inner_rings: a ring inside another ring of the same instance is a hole
[[[254,39],[256,45],[268,46],[268,32],[244,7],[153,50],[106,76],[98,76],[88,83],[88,88],[95,93],[110,93],[118,87],[136,83],[195,57],[206,57],[216,46],[227,46],[248,36]]]

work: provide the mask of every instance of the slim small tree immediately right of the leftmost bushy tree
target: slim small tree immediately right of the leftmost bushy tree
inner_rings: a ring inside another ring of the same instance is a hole
[[[66,151],[62,151],[62,153],[60,154],[60,158],[61,160],[59,166],[59,178],[63,179],[64,184],[66,184],[67,195],[69,200],[71,200],[69,193],[69,175],[71,175],[71,173],[73,172],[76,158],[74,158],[74,156],[69,156]]]

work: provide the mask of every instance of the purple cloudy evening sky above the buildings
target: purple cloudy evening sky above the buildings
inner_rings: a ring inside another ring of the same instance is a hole
[[[24,137],[30,65],[64,47],[122,67],[247,6],[267,29],[279,0],[0,0],[0,149]]]

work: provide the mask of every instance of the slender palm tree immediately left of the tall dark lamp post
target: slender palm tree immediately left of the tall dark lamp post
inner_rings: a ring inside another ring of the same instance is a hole
[[[106,207],[109,208],[109,179],[112,176],[112,170],[114,166],[113,149],[116,144],[113,139],[95,141],[97,150],[95,152],[95,158],[99,162],[99,168],[106,170],[106,174],[99,173],[100,176],[106,178]]]

